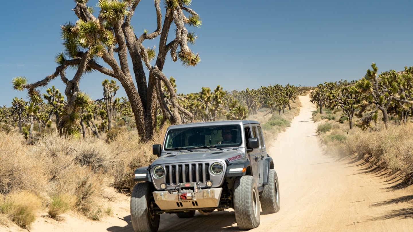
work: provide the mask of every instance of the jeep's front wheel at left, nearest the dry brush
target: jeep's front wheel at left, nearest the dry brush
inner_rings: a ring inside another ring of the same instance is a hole
[[[150,204],[154,201],[152,183],[137,183],[131,195],[131,220],[135,232],[156,232],[159,228],[159,214],[150,211]]]

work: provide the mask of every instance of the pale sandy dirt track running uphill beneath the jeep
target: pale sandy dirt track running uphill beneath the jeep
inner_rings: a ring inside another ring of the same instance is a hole
[[[291,128],[268,143],[280,180],[281,209],[263,215],[250,231],[413,231],[412,188],[395,189],[396,176],[351,159],[336,161],[323,152],[311,113],[316,108],[309,97],[300,97],[303,107]],[[271,144],[271,146],[269,146]],[[55,222],[40,218],[37,231],[133,232],[129,198],[114,202],[114,217],[105,222],[86,222],[71,215]],[[0,228],[1,229],[1,228]],[[183,219],[161,215],[159,231],[239,231],[231,210]]]

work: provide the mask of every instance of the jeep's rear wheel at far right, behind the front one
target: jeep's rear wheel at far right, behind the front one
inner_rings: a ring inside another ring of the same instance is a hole
[[[280,210],[280,187],[274,169],[270,169],[268,185],[261,193],[261,209],[265,214],[277,213]]]

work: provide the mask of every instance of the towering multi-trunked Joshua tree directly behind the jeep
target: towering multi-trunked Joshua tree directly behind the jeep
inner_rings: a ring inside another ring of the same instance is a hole
[[[88,0],[75,0],[75,2],[74,12],[79,20],[75,24],[66,23],[62,26],[65,51],[57,55],[60,66],[57,67],[56,72],[35,84],[14,83],[15,88],[21,90],[25,88],[33,92],[60,75],[67,86],[65,94],[68,105],[71,105],[71,98],[76,97],[79,92],[78,78],[91,70],[100,71],[119,80],[125,89],[142,141],[150,140],[154,135],[158,100],[159,107],[162,111],[168,112],[165,115],[170,117],[169,121],[173,124],[181,122],[180,113],[190,114],[179,106],[176,92],[162,70],[168,52],[173,61],[180,59],[185,66],[195,66],[200,62],[198,54],[194,54],[188,47],[188,43],[195,43],[197,36],[188,32],[185,27],[185,24],[197,27],[201,25],[198,14],[188,8],[191,0],[165,0],[166,12],[163,25],[160,0],[154,0],[157,28],[152,33],[145,30],[140,35],[135,34],[131,26],[131,19],[139,0],[100,0],[97,4],[100,8],[97,17],[93,15],[92,8],[86,6]],[[168,41],[172,24],[176,26],[175,38]],[[160,40],[158,54],[156,54],[154,47],[145,48],[143,43],[158,36]],[[131,63],[128,63],[128,54]],[[110,68],[97,64],[96,59],[100,58]],[[152,59],[155,59],[155,64],[150,63]],[[71,81],[64,76],[67,66],[78,67],[78,72]],[[145,69],[149,70],[148,77]],[[137,83],[136,87],[133,78]],[[161,95],[161,82],[169,90],[171,109],[165,107]],[[35,94],[32,93],[31,96]]]

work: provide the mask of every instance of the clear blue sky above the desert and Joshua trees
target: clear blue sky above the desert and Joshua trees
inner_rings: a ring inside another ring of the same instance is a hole
[[[89,0],[88,5],[96,4]],[[77,17],[73,0],[5,1],[2,6],[0,106],[11,106],[13,97],[27,96],[12,88],[12,78],[26,76],[33,83],[52,74],[55,55],[62,51],[60,25]],[[168,56],[163,70],[176,79],[178,93],[216,85],[229,91],[287,83],[315,86],[358,80],[372,62],[379,72],[413,66],[411,0],[193,0],[191,8],[202,19],[200,28],[187,27],[199,37],[190,48],[199,52],[201,62],[185,68]],[[152,0],[141,0],[132,24],[138,35],[156,29]],[[70,72],[67,76],[73,78]],[[100,99],[105,78],[86,74],[81,89]],[[51,85],[64,92],[61,79]],[[123,95],[121,88],[116,96]]]

